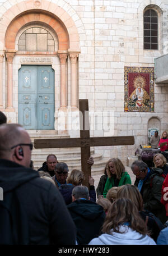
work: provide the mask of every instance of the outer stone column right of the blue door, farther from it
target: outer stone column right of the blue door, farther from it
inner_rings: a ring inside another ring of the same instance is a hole
[[[69,53],[71,59],[71,108],[77,109],[77,58],[78,53]]]

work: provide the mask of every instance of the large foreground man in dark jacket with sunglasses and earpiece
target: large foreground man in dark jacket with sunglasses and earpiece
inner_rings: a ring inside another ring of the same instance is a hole
[[[38,172],[29,168],[32,150],[29,134],[21,125],[3,124],[0,138],[0,187],[3,189],[0,204],[6,203],[8,195],[15,194],[10,204],[15,206],[17,201],[22,208],[21,216],[26,217],[24,221],[18,218],[15,223],[11,212],[12,225],[28,229],[27,244],[75,244],[76,227],[62,195],[51,182],[40,179]],[[0,240],[0,244],[8,244],[8,231],[6,228],[2,234],[0,228],[0,237],[7,237],[6,241]],[[21,243],[17,240],[15,244]]]

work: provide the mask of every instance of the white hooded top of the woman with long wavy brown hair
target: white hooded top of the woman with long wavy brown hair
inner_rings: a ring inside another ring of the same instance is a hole
[[[89,245],[156,245],[151,237],[142,235],[128,226],[120,226],[120,231],[124,233],[102,234],[92,239]]]

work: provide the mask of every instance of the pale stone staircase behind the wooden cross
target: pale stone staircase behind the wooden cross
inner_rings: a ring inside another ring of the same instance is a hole
[[[69,138],[69,135],[57,135],[56,131],[28,131],[32,143],[34,139],[60,139]],[[80,148],[48,148],[48,149],[32,149],[32,161],[34,161],[34,169],[38,170],[46,161],[48,154],[55,154],[59,162],[66,162],[69,171],[74,168],[81,170],[81,149]],[[92,166],[92,175],[103,174],[104,167],[109,158],[103,158],[101,154],[95,154],[94,147],[91,147],[91,156],[94,158]]]

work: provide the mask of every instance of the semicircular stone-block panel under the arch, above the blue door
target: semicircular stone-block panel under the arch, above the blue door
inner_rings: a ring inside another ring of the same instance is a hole
[[[53,36],[43,28],[30,28],[18,39],[18,51],[53,52]]]

